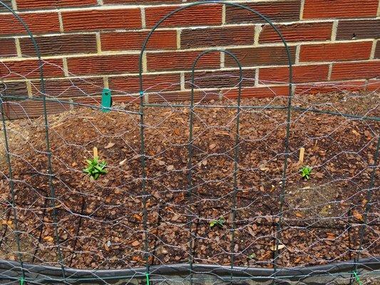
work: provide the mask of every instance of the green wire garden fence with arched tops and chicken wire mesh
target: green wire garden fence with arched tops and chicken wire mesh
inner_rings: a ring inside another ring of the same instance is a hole
[[[282,38],[257,11],[209,2]],[[108,91],[112,107],[88,78],[48,88],[43,70],[62,68],[25,25],[38,65],[1,62],[1,284],[379,282],[379,90],[294,86],[289,60],[287,82],[259,81],[266,98],[245,98],[258,79],[223,49],[200,53],[183,82],[145,86],[150,36],[200,4],[150,31],[140,88]],[[237,68],[198,72],[210,53]],[[9,95],[9,78],[36,72],[33,96]],[[95,157],[96,179],[83,172]]]

